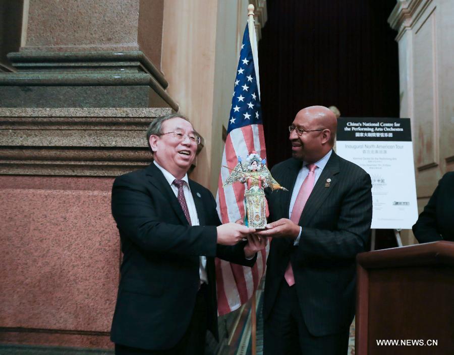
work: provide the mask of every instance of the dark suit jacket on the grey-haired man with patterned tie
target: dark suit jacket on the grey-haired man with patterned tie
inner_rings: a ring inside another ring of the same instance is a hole
[[[244,243],[216,244],[220,225],[209,190],[189,180],[200,226],[190,227],[161,171],[119,176],[112,188],[112,215],[120,231],[121,280],[111,340],[143,349],[173,347],[188,328],[199,289],[199,256],[207,257],[208,329],[217,337],[214,257],[252,266]]]

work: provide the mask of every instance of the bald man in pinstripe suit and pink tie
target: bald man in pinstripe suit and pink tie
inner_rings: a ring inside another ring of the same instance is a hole
[[[337,121],[323,106],[289,127],[293,158],[271,174],[272,237],[263,304],[264,354],[346,355],[355,315],[356,254],[370,237],[370,176],[332,150]]]

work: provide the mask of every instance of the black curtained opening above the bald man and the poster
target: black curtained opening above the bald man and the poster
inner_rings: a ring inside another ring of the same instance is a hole
[[[268,166],[291,157],[288,126],[307,106],[399,117],[395,0],[267,0],[258,43]]]

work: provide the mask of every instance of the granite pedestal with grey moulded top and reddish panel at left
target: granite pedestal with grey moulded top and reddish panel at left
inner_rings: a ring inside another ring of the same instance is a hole
[[[0,353],[112,349],[121,251],[110,189],[149,164],[146,128],[171,112],[0,108]]]

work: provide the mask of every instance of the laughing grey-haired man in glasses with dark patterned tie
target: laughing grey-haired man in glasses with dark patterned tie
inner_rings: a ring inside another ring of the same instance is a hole
[[[111,340],[116,354],[203,354],[206,330],[218,335],[214,257],[252,266],[265,238],[221,225],[188,179],[200,137],[185,117],[156,118],[147,140],[153,162],[112,188],[124,256]]]

